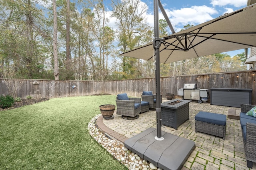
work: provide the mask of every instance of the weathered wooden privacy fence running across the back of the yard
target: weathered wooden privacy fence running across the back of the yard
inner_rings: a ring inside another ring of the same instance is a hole
[[[196,83],[197,88],[209,90],[210,88],[247,88],[252,89],[252,104],[256,104],[255,73],[255,70],[246,70],[161,77],[161,94],[163,98],[166,98],[166,93],[178,95],[178,89],[183,88],[185,83]],[[32,79],[4,81],[4,79],[0,79],[0,94],[10,94],[6,83],[18,84],[16,96],[20,98],[26,98],[26,96],[31,96],[32,98],[59,98],[103,93],[116,95],[124,92],[128,96],[140,97],[143,90],[152,90],[153,94],[155,94],[155,78],[112,81]]]

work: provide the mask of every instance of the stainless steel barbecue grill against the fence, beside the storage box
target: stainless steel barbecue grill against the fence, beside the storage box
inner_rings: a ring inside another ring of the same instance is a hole
[[[208,89],[197,88],[196,83],[184,84],[184,88],[178,90],[178,95],[185,100],[197,100],[198,103],[207,102]]]

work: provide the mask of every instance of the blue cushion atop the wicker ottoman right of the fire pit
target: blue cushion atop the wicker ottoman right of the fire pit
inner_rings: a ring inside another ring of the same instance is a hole
[[[210,113],[205,111],[199,111],[196,116],[195,120],[212,123],[215,125],[222,125],[226,126],[226,115],[217,114],[217,113]]]

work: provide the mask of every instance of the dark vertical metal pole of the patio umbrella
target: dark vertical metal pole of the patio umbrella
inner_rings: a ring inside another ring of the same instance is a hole
[[[161,39],[159,38],[159,23],[158,23],[158,0],[154,0],[154,42],[153,46],[155,49],[156,57],[156,137],[158,141],[164,140],[162,137],[162,115],[161,115],[161,92],[160,92],[160,52],[159,47],[161,46]]]

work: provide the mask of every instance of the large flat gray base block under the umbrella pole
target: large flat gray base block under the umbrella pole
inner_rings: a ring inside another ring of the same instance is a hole
[[[156,129],[149,129],[124,141],[124,146],[144,160],[163,170],[179,170],[196,147],[194,141],[162,131],[164,140],[158,141]]]

